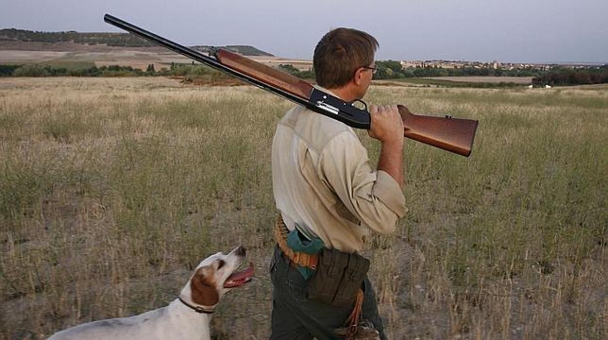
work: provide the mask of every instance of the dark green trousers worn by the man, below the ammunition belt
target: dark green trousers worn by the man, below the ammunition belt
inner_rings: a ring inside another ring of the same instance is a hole
[[[335,328],[344,325],[352,307],[337,308],[306,299],[307,280],[297,269],[289,266],[288,260],[275,246],[270,266],[272,279],[272,340],[338,339]],[[376,293],[370,280],[365,277],[362,316],[386,339],[382,319],[378,314]]]

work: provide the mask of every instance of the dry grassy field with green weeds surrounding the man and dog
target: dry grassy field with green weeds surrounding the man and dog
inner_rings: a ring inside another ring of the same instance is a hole
[[[391,339],[608,338],[605,89],[373,86],[367,100],[480,120],[470,158],[407,141],[410,212],[365,251]],[[0,79],[0,339],[160,307],[239,244],[257,276],[222,300],[213,335],[268,338],[269,150],[289,107],[157,77]]]

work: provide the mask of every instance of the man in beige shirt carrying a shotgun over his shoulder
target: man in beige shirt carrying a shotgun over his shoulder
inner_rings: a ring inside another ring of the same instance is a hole
[[[365,32],[331,30],[314,51],[317,87],[347,102],[362,99],[375,72],[377,47],[378,41]],[[367,150],[353,129],[342,122],[297,106],[278,123],[272,142],[274,198],[280,222],[306,243],[320,240],[323,248],[358,253],[370,231],[393,232],[407,211],[401,191],[403,123],[398,109],[370,105],[369,111],[368,133],[382,144],[377,170],[368,164]],[[353,307],[307,299],[310,278],[302,269],[275,248],[271,339],[334,339],[334,330],[344,326]],[[373,323],[384,339],[367,276],[363,289],[362,319]]]

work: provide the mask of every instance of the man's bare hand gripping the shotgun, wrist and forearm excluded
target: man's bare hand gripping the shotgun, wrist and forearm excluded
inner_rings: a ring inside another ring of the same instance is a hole
[[[382,144],[403,144],[403,120],[397,105],[370,105],[371,127],[367,133]]]

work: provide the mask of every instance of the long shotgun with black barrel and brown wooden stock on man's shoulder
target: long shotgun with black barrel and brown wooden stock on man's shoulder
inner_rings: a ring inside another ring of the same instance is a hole
[[[371,118],[367,104],[362,100],[345,102],[334,95],[314,88],[305,80],[271,68],[257,61],[225,49],[212,49],[210,55],[174,43],[162,36],[148,32],[115,16],[103,16],[106,23],[126,30],[160,46],[167,47],[199,63],[226,72],[244,82],[280,95],[306,108],[339,120],[353,128],[369,130]],[[360,108],[359,106],[362,106]],[[477,120],[458,119],[451,116],[435,117],[410,113],[406,106],[398,105],[403,120],[404,136],[443,150],[469,156],[477,130]]]

